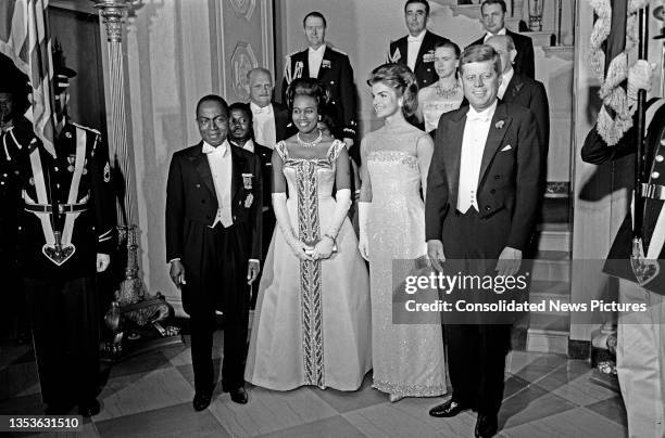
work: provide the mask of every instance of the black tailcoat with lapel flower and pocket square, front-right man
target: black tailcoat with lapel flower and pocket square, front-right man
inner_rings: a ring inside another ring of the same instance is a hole
[[[468,106],[444,113],[437,128],[435,151],[427,176],[425,231],[427,240],[441,240],[443,220],[457,205],[460,159]],[[488,133],[477,202],[481,218],[507,209],[511,217],[505,245],[527,247],[540,197],[540,145],[534,114],[519,105],[499,101]],[[473,207],[472,207],[473,208]]]

